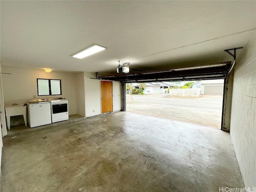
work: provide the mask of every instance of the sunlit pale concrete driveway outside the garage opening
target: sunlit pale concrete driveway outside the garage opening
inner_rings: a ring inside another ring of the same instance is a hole
[[[169,94],[134,95],[126,110],[160,118],[221,128],[222,96],[173,98]]]

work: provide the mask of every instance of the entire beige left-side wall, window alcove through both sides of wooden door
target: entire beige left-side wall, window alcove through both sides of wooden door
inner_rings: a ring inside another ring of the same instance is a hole
[[[50,72],[44,70],[29,70],[11,67],[2,67],[4,74],[3,89],[5,105],[13,103],[25,104],[28,100],[36,98],[64,97],[68,100],[69,114],[80,114],[85,117],[101,114],[100,80],[94,73],[66,73]],[[62,95],[38,96],[37,78],[61,79]],[[121,84],[113,82],[113,111],[121,109]],[[22,116],[19,116],[22,118]],[[23,119],[11,118],[11,125],[24,123]]]

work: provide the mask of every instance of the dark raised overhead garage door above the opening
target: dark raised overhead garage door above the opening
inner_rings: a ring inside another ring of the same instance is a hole
[[[174,68],[161,71],[145,71],[133,74],[117,74],[101,76],[103,80],[120,81],[122,83],[189,81],[206,79],[225,79],[230,69],[231,61],[216,64],[193,66],[189,68]]]

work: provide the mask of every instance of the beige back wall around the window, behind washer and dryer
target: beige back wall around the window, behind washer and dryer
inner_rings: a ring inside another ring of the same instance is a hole
[[[21,68],[12,68],[2,66],[2,72],[11,73],[3,74],[3,92],[4,105],[14,103],[25,104],[28,100],[35,98],[63,97],[68,100],[69,114],[76,114],[76,78],[73,73],[50,72],[44,70],[30,70]],[[37,95],[37,78],[60,79],[62,86],[62,95],[58,96],[38,96]],[[19,124],[12,121],[11,125]]]

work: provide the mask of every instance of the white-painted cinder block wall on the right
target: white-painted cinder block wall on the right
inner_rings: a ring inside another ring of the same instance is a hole
[[[234,67],[230,136],[246,187],[256,187],[256,36]]]

